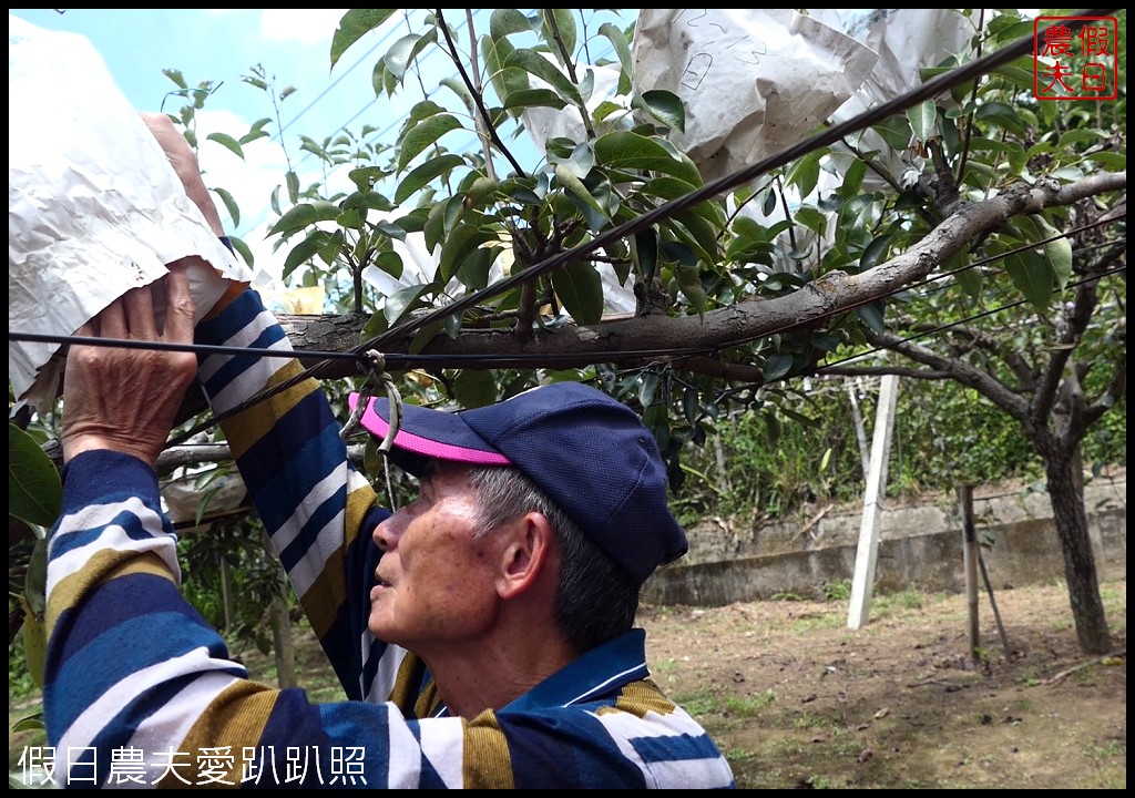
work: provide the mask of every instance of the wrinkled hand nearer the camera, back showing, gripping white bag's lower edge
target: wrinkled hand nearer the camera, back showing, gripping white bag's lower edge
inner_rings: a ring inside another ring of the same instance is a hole
[[[182,261],[150,286],[134,288],[78,329],[79,336],[193,343],[193,296]],[[165,325],[151,292],[166,292]],[[64,371],[64,462],[81,452],[111,450],[153,465],[185,390],[196,376],[192,352],[73,344]]]

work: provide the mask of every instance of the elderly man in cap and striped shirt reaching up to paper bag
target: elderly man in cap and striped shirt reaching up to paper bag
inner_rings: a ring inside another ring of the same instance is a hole
[[[219,235],[184,140],[165,117],[148,123]],[[194,328],[182,264],[165,283],[152,288],[163,301],[132,291],[81,335],[288,348],[254,292]],[[393,513],[348,461],[314,380],[228,419],[347,700],[250,681],[179,595],[152,465],[194,378],[225,413],[300,370],[72,347],[44,683],[61,783],[734,787],[706,732],[650,681],[633,628],[642,582],[687,546],[664,464],[631,410],[579,384],[461,413],[404,408],[390,455],[421,490]],[[360,410],[386,437],[388,403]]]

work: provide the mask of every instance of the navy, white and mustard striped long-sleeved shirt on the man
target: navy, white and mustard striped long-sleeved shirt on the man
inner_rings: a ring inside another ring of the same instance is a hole
[[[197,342],[287,351],[253,292]],[[216,412],[301,371],[288,358],[202,356]],[[179,593],[176,537],[145,463],[73,459],[51,530],[43,700],[65,787],[732,788],[705,730],[649,680],[640,629],[507,706],[448,714],[423,663],[367,628],[388,514],[346,456],[312,379],[225,434],[346,700],[249,679]]]

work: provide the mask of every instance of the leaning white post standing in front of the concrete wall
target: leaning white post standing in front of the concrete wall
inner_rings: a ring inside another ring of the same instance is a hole
[[[880,496],[886,487],[886,461],[891,454],[891,431],[894,429],[894,405],[898,393],[899,378],[894,375],[884,375],[878,387],[878,409],[875,412],[875,430],[871,443],[871,468],[863,498],[863,521],[859,524],[855,577],[851,580],[848,629],[861,629],[867,622],[867,611],[871,607],[875,560],[878,555],[878,526],[883,514]]]

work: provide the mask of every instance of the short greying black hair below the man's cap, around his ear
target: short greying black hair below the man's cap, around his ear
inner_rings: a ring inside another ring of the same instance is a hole
[[[582,654],[634,625],[639,585],[520,470],[499,465],[469,469],[477,493],[479,535],[528,512],[539,512],[555,530],[562,553],[556,586],[556,625]]]

